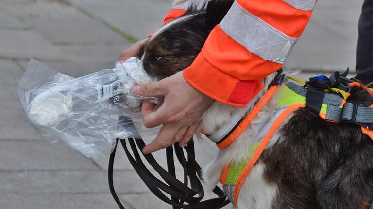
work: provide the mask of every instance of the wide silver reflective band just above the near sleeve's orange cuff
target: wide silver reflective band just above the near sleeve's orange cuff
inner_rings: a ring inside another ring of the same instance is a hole
[[[220,28],[264,60],[283,64],[298,38],[292,38],[252,15],[235,1]]]

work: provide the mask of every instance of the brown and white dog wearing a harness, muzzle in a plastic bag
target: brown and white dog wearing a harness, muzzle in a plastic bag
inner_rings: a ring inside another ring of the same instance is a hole
[[[198,53],[210,31],[220,23],[233,0],[212,0],[202,9],[191,7],[185,15],[157,30],[142,47],[142,66],[155,80],[184,70]],[[274,75],[262,80],[268,86]],[[249,109],[265,93],[248,104]],[[373,104],[373,97],[352,88],[349,101]],[[223,167],[246,157],[257,138],[257,124],[272,117],[277,99],[227,149],[205,169],[210,188],[220,180]],[[213,134],[232,113],[242,108],[214,102],[201,119],[199,130]],[[238,209],[358,209],[373,198],[373,142],[355,124],[330,123],[305,107],[289,115],[246,178]]]

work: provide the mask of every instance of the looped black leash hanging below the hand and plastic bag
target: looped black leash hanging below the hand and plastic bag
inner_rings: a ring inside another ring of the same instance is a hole
[[[117,145],[118,141],[119,140],[117,139]],[[142,148],[145,146],[144,141],[142,139],[134,140],[132,138],[129,138],[128,142],[132,149],[133,156],[127,148],[126,141],[120,140],[120,143],[136,173],[140,176],[140,178],[144,181],[146,186],[152,191],[153,194],[155,194],[162,201],[172,205],[173,209],[219,209],[229,203],[229,200],[227,199],[225,193],[218,186],[215,187],[215,189],[213,190],[213,192],[218,195],[217,198],[201,201],[204,195],[202,184],[198,179],[198,177],[201,176],[201,167],[194,159],[193,140],[190,140],[190,142],[185,147],[186,153],[188,155],[187,160],[185,158],[184,150],[177,144],[174,145],[175,155],[184,169],[184,182],[180,182],[175,177],[176,171],[174,166],[175,164],[172,146],[166,149],[168,171],[163,169],[155,161],[152,154],[143,155],[148,163],[153,167],[153,169],[165,181],[165,183],[157,179],[142,162],[137,147],[138,149],[142,150]],[[119,208],[125,209],[115,192],[113,184],[113,166],[117,145],[110,155],[109,159],[109,188]],[[191,188],[188,187],[188,178],[191,184]],[[165,193],[169,194],[171,198],[166,196]],[[198,196],[194,197],[197,194]]]

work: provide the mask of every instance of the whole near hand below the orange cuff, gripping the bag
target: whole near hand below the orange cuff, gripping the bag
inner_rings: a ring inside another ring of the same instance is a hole
[[[157,137],[142,149],[148,154],[179,142],[184,147],[196,132],[200,119],[213,99],[194,89],[178,72],[155,83],[135,86],[132,93],[145,97],[164,96],[156,111],[151,101],[142,103],[142,117],[147,128],[162,125]]]

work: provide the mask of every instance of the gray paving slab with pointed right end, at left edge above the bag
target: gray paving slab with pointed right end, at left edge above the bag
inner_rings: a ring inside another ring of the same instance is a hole
[[[69,59],[34,31],[1,29],[0,57],[40,60]]]

